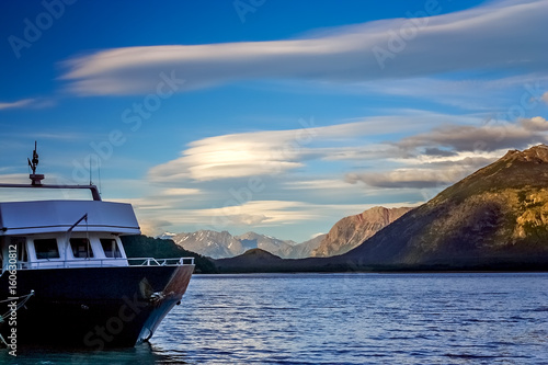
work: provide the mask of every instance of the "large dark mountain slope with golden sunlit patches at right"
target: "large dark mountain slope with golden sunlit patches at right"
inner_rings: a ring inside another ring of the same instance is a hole
[[[548,147],[509,151],[343,259],[357,267],[548,264]]]

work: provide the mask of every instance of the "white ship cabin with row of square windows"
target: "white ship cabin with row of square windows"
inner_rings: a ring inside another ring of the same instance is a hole
[[[37,191],[44,196],[47,187],[88,190],[91,199],[26,199]],[[103,202],[94,185],[0,189],[25,191],[24,202],[0,202],[2,273],[10,264],[16,270],[128,265],[119,237],[140,233],[129,204]]]

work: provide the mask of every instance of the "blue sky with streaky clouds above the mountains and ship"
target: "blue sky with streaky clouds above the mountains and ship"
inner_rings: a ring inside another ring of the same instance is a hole
[[[308,240],[548,138],[546,0],[2,1],[0,181]]]

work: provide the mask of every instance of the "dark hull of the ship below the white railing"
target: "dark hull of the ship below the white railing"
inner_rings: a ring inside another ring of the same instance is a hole
[[[16,273],[16,295],[34,290],[15,316],[0,323],[10,343],[134,346],[155,333],[178,304],[194,265],[25,270]],[[9,299],[8,272],[0,277],[0,299]],[[8,303],[0,312],[9,312]]]

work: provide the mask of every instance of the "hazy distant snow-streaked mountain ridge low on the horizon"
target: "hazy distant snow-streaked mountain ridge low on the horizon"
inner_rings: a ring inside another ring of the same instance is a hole
[[[195,232],[162,233],[157,238],[171,239],[185,250],[213,259],[232,258],[250,249],[262,249],[283,259],[308,258],[318,247],[320,235],[302,243],[292,240],[281,240],[271,236],[247,232],[232,236],[228,231],[198,230]]]

